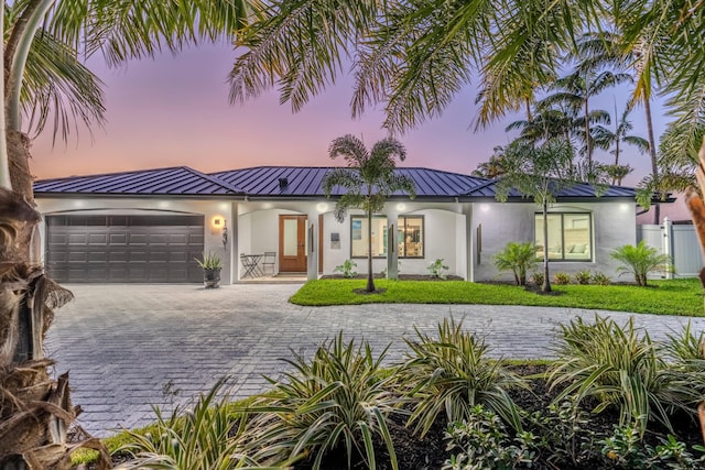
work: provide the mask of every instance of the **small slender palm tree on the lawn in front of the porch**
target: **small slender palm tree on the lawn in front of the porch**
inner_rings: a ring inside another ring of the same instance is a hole
[[[335,205],[335,218],[343,223],[348,209],[362,209],[367,215],[367,292],[375,292],[372,277],[372,215],[384,208],[384,201],[397,192],[415,197],[414,182],[406,175],[394,172],[395,159],[403,162],[406,150],[394,139],[388,138],[377,142],[368,151],[365,143],[355,135],[335,139],[328,149],[330,159],[343,156],[347,162],[345,168],[328,171],[323,178],[323,192],[327,197],[333,188],[339,186],[346,193]]]

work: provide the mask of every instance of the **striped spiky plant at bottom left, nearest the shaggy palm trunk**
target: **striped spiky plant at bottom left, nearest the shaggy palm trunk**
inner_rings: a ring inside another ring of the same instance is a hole
[[[227,470],[260,467],[248,451],[245,416],[232,413],[228,396],[219,400],[224,381],[200,394],[193,411],[176,407],[169,418],[155,407],[156,423],[142,434],[128,430],[118,449],[133,456],[120,469]]]

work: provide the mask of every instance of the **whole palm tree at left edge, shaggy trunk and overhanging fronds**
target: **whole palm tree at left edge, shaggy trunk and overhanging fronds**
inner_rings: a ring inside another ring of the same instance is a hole
[[[100,123],[99,80],[77,59],[101,52],[117,65],[177,52],[186,43],[227,37],[247,18],[243,0],[3,2],[0,31],[0,466],[64,468],[66,428],[76,416],[68,378],[54,382],[43,339],[52,309],[70,298],[33,256],[40,216],[29,168],[31,139],[54,113],[54,132],[66,138],[72,121]],[[22,122],[23,118],[29,122]],[[86,442],[99,447],[96,440]]]

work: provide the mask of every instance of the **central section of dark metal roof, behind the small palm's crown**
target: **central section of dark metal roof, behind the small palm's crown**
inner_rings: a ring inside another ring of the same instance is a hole
[[[332,167],[258,166],[212,173],[212,176],[241,188],[251,197],[323,197],[321,182],[329,170]],[[486,182],[474,176],[429,168],[397,168],[397,173],[413,179],[416,185],[416,197],[420,198],[457,197]],[[283,179],[286,184],[280,184]],[[345,189],[340,187],[333,190],[334,196],[344,193]],[[403,193],[398,194],[398,196],[403,195]]]

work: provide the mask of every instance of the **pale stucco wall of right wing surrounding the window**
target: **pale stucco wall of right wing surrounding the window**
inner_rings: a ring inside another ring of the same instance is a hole
[[[512,281],[512,274],[499,273],[494,256],[510,242],[534,241],[534,215],[540,208],[532,203],[476,203],[473,207],[473,230],[481,226],[481,240],[474,243],[473,269],[475,281]],[[611,251],[622,244],[634,244],[637,239],[636,204],[628,201],[554,204],[550,212],[581,212],[593,215],[593,260],[551,261],[552,274],[578,271],[600,271],[617,280],[617,266]],[[540,265],[536,266],[536,270]]]

